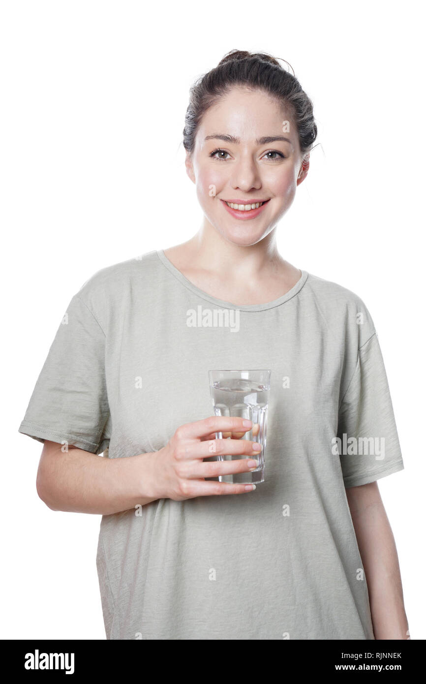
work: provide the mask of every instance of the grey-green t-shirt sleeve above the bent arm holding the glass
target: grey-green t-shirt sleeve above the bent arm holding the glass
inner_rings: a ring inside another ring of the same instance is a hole
[[[92,453],[109,445],[105,334],[74,295],[44,362],[18,432]]]

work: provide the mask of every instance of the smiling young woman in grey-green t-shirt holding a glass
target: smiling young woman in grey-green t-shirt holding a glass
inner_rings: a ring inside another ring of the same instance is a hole
[[[96,273],[59,326],[20,432],[44,442],[49,508],[103,514],[107,639],[408,637],[377,488],[403,460],[373,321],[276,248],[316,137],[293,75],[228,53],[185,120],[200,230]],[[218,479],[257,452],[251,423],[212,417],[213,368],[271,369],[257,488]]]

